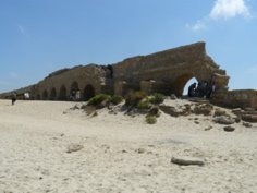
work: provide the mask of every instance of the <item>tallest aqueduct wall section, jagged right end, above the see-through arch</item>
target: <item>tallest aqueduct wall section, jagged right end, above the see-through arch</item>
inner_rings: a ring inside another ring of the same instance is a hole
[[[113,64],[114,82],[140,84],[154,80],[157,84],[171,84],[170,93],[176,95],[183,93],[192,77],[198,82],[216,82],[217,89],[228,89],[229,76],[207,56],[205,43],[137,56]]]

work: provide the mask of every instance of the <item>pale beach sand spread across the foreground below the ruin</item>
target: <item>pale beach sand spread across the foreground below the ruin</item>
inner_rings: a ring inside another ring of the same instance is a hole
[[[0,100],[0,193],[257,192],[257,123],[225,132],[212,117],[162,113],[151,125],[107,109],[91,118],[74,105]],[[71,145],[84,148],[69,154]]]

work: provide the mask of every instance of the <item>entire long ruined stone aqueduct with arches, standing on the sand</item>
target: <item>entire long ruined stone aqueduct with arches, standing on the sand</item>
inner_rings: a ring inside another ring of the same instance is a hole
[[[115,64],[88,64],[62,69],[35,85],[13,92],[16,92],[20,98],[25,92],[29,92],[32,99],[36,100],[69,100],[73,89],[81,91],[82,100],[88,100],[101,93],[125,96],[131,89],[180,96],[192,77],[198,82],[215,82],[215,99],[218,102],[231,96],[231,92],[228,92],[230,77],[207,56],[205,43],[137,56]],[[12,92],[1,94],[0,98],[8,98],[11,94]],[[241,94],[242,92],[237,98],[242,98]],[[255,95],[254,92],[253,96]],[[256,104],[253,96],[247,94]],[[253,102],[246,106],[253,106]]]

